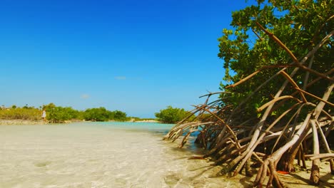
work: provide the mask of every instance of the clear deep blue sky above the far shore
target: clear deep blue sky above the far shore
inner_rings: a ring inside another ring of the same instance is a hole
[[[249,3],[248,3],[249,4]],[[0,1],[0,105],[191,110],[218,91],[217,57],[245,1]]]

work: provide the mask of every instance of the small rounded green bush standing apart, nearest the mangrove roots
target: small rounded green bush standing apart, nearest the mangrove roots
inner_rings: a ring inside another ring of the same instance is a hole
[[[160,122],[176,123],[188,117],[190,114],[183,108],[173,108],[168,106],[166,109],[160,110],[160,113],[156,113],[155,115]]]

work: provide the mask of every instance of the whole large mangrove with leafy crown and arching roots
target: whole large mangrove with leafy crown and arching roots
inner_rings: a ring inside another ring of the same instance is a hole
[[[199,132],[203,157],[222,164],[221,174],[259,166],[257,187],[285,187],[278,172],[293,172],[295,158],[302,168],[310,159],[310,183],[320,184],[320,159],[334,174],[333,1],[258,0],[232,17],[233,29],[218,39],[226,83],[207,95],[220,99],[193,110],[210,114],[204,122],[182,120],[165,139],[183,135],[182,147]]]

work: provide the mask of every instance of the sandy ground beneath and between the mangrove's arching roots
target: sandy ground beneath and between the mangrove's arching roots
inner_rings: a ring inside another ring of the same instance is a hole
[[[180,142],[181,140],[178,139]],[[187,143],[186,145],[189,145]],[[197,155],[201,156],[201,155]],[[229,174],[221,174],[222,166],[212,165],[213,161],[206,159],[206,160],[193,160],[197,161],[196,164],[188,164],[190,165],[187,167],[190,170],[193,169],[202,169],[201,172],[201,180],[203,177],[210,179],[212,187],[220,187],[219,184],[223,184],[222,187],[253,187],[253,183],[255,177],[258,173],[258,167],[253,168],[251,167],[251,175],[246,176],[245,170],[241,171],[241,174],[237,174],[235,177],[231,177]],[[209,166],[205,167],[205,163],[209,164]],[[323,188],[334,188],[334,175],[330,172],[330,163],[328,161],[320,163],[320,184],[318,186],[310,184],[310,171],[312,167],[312,161],[307,160],[306,169],[298,168],[298,165],[295,165],[295,172],[291,172],[290,174],[278,174],[280,180],[283,182],[285,187],[288,188],[316,188],[316,187],[323,187]],[[201,165],[200,165],[201,164]],[[297,160],[295,160],[295,164],[297,164]],[[212,165],[212,166],[211,166]],[[198,168],[199,166],[203,166]],[[268,183],[268,176],[265,177],[265,182],[263,187],[265,187]],[[210,187],[210,186],[209,186]]]

